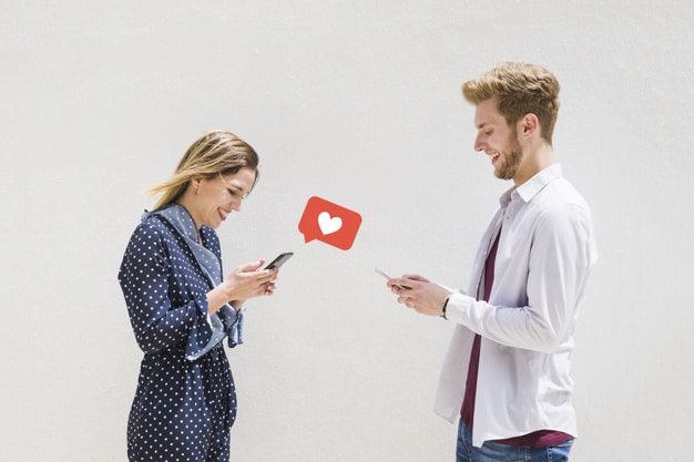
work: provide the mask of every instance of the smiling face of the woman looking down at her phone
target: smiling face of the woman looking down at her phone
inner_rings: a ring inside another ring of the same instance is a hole
[[[197,227],[205,224],[217,229],[228,214],[241,211],[241,203],[248,195],[255,182],[255,171],[242,167],[232,175],[217,175],[202,178],[191,186],[196,194],[193,196],[193,211],[188,211]]]

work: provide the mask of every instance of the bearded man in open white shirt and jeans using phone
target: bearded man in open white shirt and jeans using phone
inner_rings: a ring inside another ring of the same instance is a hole
[[[554,160],[559,83],[543,68],[504,63],[462,93],[476,105],[474,150],[513,187],[467,291],[418,275],[388,286],[398,302],[457,324],[435,411],[460,417],[458,462],[567,461],[576,435],[573,330],[596,250],[589,206]]]

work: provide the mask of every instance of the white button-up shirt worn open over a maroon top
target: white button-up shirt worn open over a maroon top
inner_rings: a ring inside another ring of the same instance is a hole
[[[591,212],[559,164],[508,191],[500,202],[468,291],[455,292],[448,302],[447,317],[458,326],[435,411],[450,422],[460,414],[472,340],[479,333],[474,445],[537,430],[575,437],[571,352],[579,301],[598,257]],[[489,302],[478,301],[499,227],[491,295]]]

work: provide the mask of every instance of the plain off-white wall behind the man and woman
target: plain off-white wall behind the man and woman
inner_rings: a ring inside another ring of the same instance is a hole
[[[562,84],[554,147],[600,261],[576,332],[573,461],[683,460],[694,340],[693,8],[684,1],[4,1],[0,460],[124,461],[137,349],[116,273],[204,131],[262,156],[227,270],[293,250],[229,350],[236,462],[452,461],[433,415],[453,326],[374,273],[467,286],[499,195],[460,84],[502,61]],[[308,197],[359,212],[305,244]]]

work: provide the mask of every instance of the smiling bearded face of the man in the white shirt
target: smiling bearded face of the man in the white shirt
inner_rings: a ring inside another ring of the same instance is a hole
[[[501,179],[513,179],[520,168],[523,153],[516,129],[509,126],[497,110],[497,99],[482,101],[474,111],[477,137],[474,151],[483,151]]]

